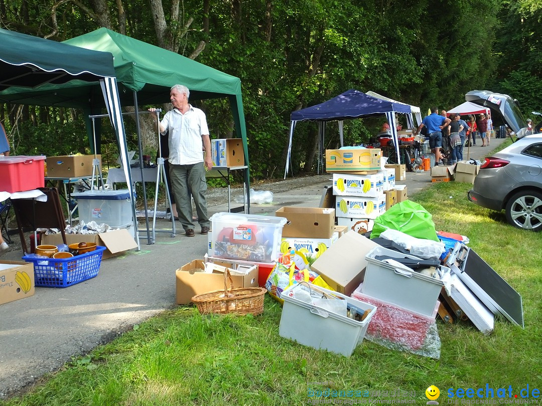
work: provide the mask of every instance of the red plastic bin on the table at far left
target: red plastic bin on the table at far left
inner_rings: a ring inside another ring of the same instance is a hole
[[[44,155],[0,156],[0,192],[24,192],[45,185]]]

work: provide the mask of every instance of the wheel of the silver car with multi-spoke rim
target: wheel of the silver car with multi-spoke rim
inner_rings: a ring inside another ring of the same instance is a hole
[[[542,231],[542,193],[521,191],[506,204],[506,219],[514,227]]]

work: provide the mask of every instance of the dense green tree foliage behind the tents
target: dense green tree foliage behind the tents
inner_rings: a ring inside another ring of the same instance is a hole
[[[261,179],[282,174],[291,112],[350,88],[422,112],[454,107],[467,91],[482,88],[517,98],[525,113],[542,108],[541,10],[536,0],[1,0],[0,21],[60,41],[104,26],[240,77],[251,175]],[[227,101],[206,101],[203,108],[211,137],[231,136]],[[19,154],[84,149],[81,116],[0,109]],[[346,142],[367,141],[383,120],[345,122]],[[337,125],[328,129],[325,147],[333,147]],[[296,127],[294,173],[314,169],[316,137],[314,123]]]

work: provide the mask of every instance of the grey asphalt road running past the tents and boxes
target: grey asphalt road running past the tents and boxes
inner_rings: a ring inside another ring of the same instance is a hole
[[[502,141],[493,139],[490,148],[470,148],[470,158],[482,159]],[[406,181],[397,183],[405,184],[409,195],[431,185],[428,172],[407,173]],[[250,213],[274,214],[282,206],[318,207],[324,186],[330,184],[330,175],[324,174],[252,185],[274,197],[273,204],[251,205]],[[238,195],[242,188],[232,189],[232,200]],[[208,201],[210,214],[227,211],[225,188],[209,191]],[[177,227],[182,231],[178,222]],[[157,230],[167,229],[171,222],[158,219]],[[207,251],[207,236],[198,232],[194,238],[158,232],[151,245],[141,233],[140,251],[102,261],[95,278],[66,289],[37,287],[32,297],[0,305],[0,398],[175,307],[175,271],[202,259]],[[21,260],[21,251],[10,251],[2,259]]]

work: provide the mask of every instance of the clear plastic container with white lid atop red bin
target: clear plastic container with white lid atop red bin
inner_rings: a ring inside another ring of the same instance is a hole
[[[211,216],[211,257],[270,262],[279,258],[283,217],[215,213]]]

